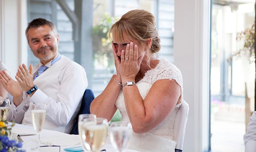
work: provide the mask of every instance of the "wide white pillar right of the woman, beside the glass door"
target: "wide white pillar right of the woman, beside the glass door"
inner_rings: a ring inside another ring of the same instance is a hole
[[[175,0],[174,64],[189,103],[184,152],[209,146],[209,0]]]

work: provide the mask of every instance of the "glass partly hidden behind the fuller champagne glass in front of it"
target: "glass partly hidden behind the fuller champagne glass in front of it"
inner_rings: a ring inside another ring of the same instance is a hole
[[[82,126],[96,124],[96,115],[95,114],[80,114],[78,116],[78,134],[80,141],[82,141]],[[86,150],[84,144],[82,144],[83,149]]]

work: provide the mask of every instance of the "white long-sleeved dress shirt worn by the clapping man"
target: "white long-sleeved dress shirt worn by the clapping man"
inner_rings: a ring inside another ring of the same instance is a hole
[[[37,72],[38,68],[39,65],[34,70]],[[24,91],[22,103],[17,107],[11,105],[7,120],[32,126],[32,103],[45,103],[46,121],[43,129],[70,133],[88,86],[85,69],[62,55],[59,61],[34,80],[34,84],[38,87],[37,91],[32,97]]]

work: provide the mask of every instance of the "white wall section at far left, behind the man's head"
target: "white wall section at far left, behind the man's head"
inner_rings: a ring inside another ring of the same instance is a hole
[[[14,78],[18,65],[27,64],[26,0],[0,0],[1,61]]]

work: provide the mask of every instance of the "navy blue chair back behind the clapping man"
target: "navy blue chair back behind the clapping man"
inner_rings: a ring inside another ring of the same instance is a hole
[[[90,89],[86,89],[85,93],[82,97],[82,103],[81,103],[81,107],[80,110],[76,116],[75,122],[74,122],[74,126],[70,131],[70,134],[74,134],[74,135],[78,135],[78,116],[80,114],[90,114],[90,106],[91,106],[91,102],[94,99],[94,95],[93,92]]]

